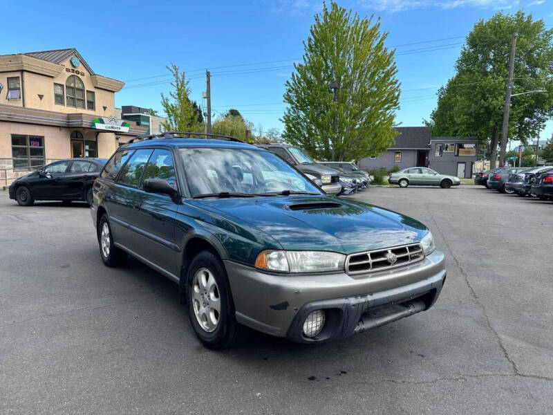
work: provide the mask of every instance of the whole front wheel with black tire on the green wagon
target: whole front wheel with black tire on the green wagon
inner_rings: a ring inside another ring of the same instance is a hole
[[[209,349],[232,347],[240,326],[225,268],[212,252],[200,252],[187,272],[190,322],[200,341]]]

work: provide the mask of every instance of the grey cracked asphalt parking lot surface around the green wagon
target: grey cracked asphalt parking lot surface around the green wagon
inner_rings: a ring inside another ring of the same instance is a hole
[[[86,205],[0,193],[0,413],[553,413],[553,203],[471,185],[351,199],[429,226],[438,303],[342,342],[248,333],[214,352],[175,284],[102,264]]]

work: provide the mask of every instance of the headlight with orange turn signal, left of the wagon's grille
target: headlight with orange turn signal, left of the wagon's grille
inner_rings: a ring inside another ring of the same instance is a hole
[[[255,266],[279,273],[324,273],[343,270],[345,260],[337,252],[266,250],[257,255]]]

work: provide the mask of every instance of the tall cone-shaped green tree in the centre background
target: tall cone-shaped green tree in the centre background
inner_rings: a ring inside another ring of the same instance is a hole
[[[323,4],[303,42],[303,62],[285,84],[286,141],[322,160],[376,156],[391,145],[400,86],[386,35],[373,17]]]

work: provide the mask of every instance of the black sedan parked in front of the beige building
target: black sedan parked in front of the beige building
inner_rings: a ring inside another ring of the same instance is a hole
[[[50,163],[17,178],[9,188],[10,199],[21,206],[35,201],[86,201],[92,205],[92,184],[106,163],[104,158],[69,158]]]

